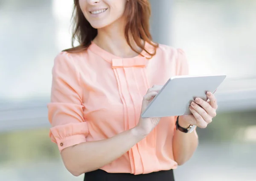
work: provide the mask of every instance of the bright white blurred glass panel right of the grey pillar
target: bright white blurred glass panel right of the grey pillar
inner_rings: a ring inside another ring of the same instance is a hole
[[[255,0],[174,0],[172,40],[192,74],[256,77],[255,9]]]

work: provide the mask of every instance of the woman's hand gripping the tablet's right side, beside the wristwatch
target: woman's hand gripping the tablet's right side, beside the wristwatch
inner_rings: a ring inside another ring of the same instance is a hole
[[[204,101],[201,98],[196,98],[193,101],[189,109],[192,115],[182,115],[179,119],[180,126],[184,125],[196,125],[200,128],[206,128],[209,123],[212,122],[212,118],[216,116],[216,110],[218,108],[217,100],[211,92],[207,92],[209,101]]]

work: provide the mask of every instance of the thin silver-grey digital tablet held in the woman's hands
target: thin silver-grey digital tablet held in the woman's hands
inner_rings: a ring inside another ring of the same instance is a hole
[[[226,75],[174,76],[149,103],[142,118],[189,115],[195,98],[207,101],[207,91],[214,93]]]

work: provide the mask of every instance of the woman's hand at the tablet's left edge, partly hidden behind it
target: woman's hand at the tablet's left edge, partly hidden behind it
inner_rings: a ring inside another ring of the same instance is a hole
[[[153,100],[153,98],[158,94],[160,89],[163,86],[154,85],[152,88],[149,88],[145,96],[143,97],[142,107],[141,107],[141,114],[144,112],[148,104]],[[159,123],[160,118],[141,118],[139,123],[135,127],[138,134],[146,136],[148,135],[155,126]]]

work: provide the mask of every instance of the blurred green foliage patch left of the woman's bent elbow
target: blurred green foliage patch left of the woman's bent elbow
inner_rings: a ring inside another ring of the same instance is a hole
[[[31,129],[0,134],[0,164],[8,161],[36,162],[59,157],[59,151],[50,141],[49,129]]]

